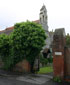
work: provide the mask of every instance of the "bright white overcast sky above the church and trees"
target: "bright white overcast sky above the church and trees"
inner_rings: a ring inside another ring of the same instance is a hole
[[[0,0],[0,30],[26,20],[38,20],[43,4],[49,31],[65,28],[70,34],[70,0]]]

